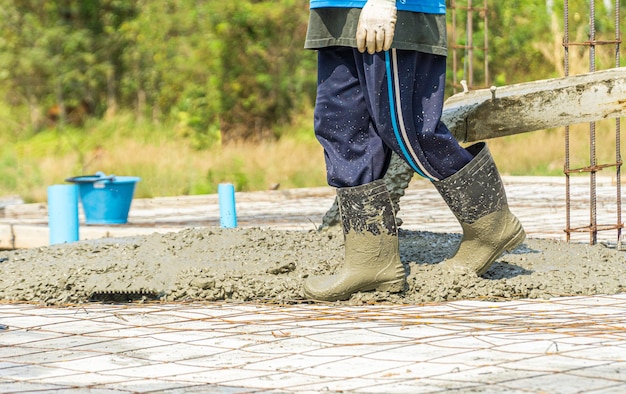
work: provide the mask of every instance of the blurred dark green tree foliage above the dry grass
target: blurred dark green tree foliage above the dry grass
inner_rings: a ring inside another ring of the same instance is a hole
[[[611,3],[597,3],[598,34],[611,39]],[[588,1],[569,4],[572,39],[588,39]],[[562,74],[563,8],[488,1],[486,82]],[[308,0],[0,0],[0,93],[27,108],[24,132],[44,127],[52,105],[87,100],[97,117],[172,122],[199,148],[275,138],[314,101],[307,18]]]

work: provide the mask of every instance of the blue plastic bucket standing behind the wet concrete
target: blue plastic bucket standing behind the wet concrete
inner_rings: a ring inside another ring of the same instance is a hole
[[[134,176],[84,175],[66,179],[78,185],[87,224],[124,224],[141,178]]]

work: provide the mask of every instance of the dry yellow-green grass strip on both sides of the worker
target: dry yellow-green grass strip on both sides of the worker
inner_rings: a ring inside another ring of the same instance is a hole
[[[218,144],[206,150],[194,149],[177,135],[175,125],[137,122],[128,114],[94,120],[84,129],[47,129],[17,141],[0,134],[0,196],[44,202],[49,185],[96,171],[141,177],[137,198],[211,194],[221,182],[233,183],[237,191],[324,186],[323,151],[311,119],[310,113],[303,114],[285,126],[276,142]],[[612,130],[614,121],[598,123],[599,163],[615,162]],[[570,134],[571,167],[587,165],[589,126],[573,126]],[[563,175],[563,129],[488,143],[504,175]]]

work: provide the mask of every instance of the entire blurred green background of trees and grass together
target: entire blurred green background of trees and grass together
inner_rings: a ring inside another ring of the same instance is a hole
[[[480,79],[476,50],[475,86],[563,75],[563,1],[487,4],[492,77]],[[596,4],[596,39],[615,38],[614,6]],[[588,39],[588,9],[569,2],[570,41]],[[466,15],[456,13],[457,26]],[[475,45],[483,16],[473,13]],[[308,0],[0,0],[0,197],[45,201],[47,186],[96,171],[140,176],[137,197],[215,193],[220,182],[238,191],[325,185],[307,18]],[[615,55],[599,48],[596,68],[613,67]],[[588,57],[571,47],[570,74],[588,70]],[[459,68],[450,81],[467,79]],[[587,137],[575,133],[582,163]],[[601,160],[615,160],[610,124],[599,133]],[[558,175],[562,139],[546,130],[491,147],[506,174]]]

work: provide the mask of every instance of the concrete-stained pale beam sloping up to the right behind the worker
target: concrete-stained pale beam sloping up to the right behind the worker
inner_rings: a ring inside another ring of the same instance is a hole
[[[458,93],[443,122],[463,142],[626,115],[626,67]]]

